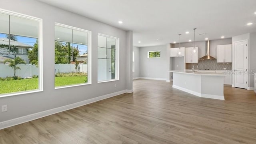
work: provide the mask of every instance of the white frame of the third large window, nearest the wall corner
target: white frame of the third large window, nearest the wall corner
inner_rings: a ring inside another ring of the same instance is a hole
[[[102,83],[102,82],[112,82],[112,81],[116,81],[119,80],[119,38],[116,38],[114,36],[109,36],[106,34],[100,34],[98,33],[98,36],[106,36],[107,38],[114,38],[116,39],[116,78],[115,79],[111,79],[111,80],[102,80],[102,81],[98,81],[98,83]],[[98,50],[98,43],[97,43],[97,50]],[[97,54],[97,61],[98,61],[98,54]],[[98,67],[98,62],[97,62],[97,67]],[[98,74],[97,74],[97,78],[98,78]]]

